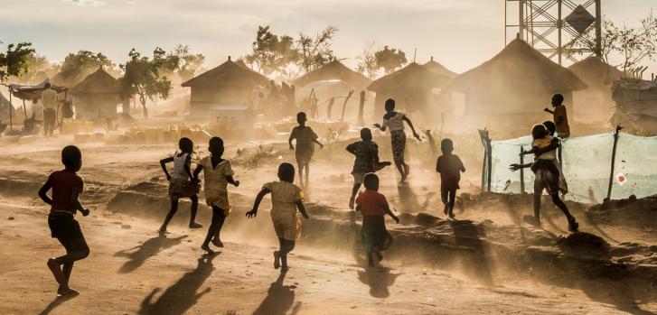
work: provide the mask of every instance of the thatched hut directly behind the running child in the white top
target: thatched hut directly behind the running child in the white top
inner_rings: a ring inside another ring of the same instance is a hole
[[[383,104],[388,98],[393,98],[402,110],[426,113],[433,103],[434,88],[441,88],[447,82],[449,78],[446,76],[411,62],[402,69],[374,80],[367,89],[376,93],[374,113],[377,117],[382,115]]]

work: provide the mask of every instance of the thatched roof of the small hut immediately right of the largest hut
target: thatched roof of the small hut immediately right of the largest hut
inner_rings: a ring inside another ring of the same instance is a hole
[[[596,56],[588,57],[568,67],[589,87],[611,87],[615,80],[623,78],[623,72]]]

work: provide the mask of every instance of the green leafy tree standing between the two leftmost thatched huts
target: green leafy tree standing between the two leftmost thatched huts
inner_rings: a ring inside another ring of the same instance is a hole
[[[148,118],[148,109],[146,100],[155,100],[155,97],[164,99],[169,97],[171,92],[171,80],[160,76],[159,70],[163,67],[160,58],[161,51],[153,51],[153,59],[142,56],[134,48],[128,53],[130,60],[126,64],[120,65],[125,71],[121,79],[124,97],[136,94],[139,97],[139,103],[144,108],[144,117]]]

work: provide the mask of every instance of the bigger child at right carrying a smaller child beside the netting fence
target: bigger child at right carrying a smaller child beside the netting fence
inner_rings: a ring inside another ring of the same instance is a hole
[[[545,138],[547,133],[547,128],[544,125],[534,125],[531,128],[531,137],[534,139],[532,146],[533,144],[542,145],[545,143],[544,140],[540,139]],[[514,163],[511,165],[510,169],[512,171],[518,171],[521,168],[527,167],[530,167],[531,171],[533,171],[536,176],[534,177],[534,217],[525,217],[525,221],[532,226],[540,227],[540,196],[543,194],[543,190],[547,190],[555,206],[561,209],[564,215],[566,215],[566,218],[568,219],[568,230],[571,232],[577,232],[577,228],[579,227],[577,220],[570,214],[566,204],[558,197],[559,175],[554,163],[550,160],[536,159],[532,163],[522,165]]]

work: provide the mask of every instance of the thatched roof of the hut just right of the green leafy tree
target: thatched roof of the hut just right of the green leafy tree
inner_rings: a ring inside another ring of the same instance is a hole
[[[251,88],[257,85],[267,85],[268,81],[267,77],[231,61],[229,57],[226,62],[218,67],[183,82],[183,87],[232,86]]]

